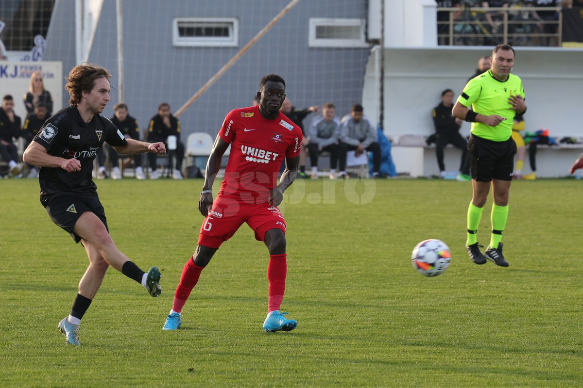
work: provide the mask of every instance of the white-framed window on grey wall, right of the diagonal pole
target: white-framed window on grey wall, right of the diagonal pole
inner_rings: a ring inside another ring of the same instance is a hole
[[[310,18],[309,47],[368,47],[363,19]]]

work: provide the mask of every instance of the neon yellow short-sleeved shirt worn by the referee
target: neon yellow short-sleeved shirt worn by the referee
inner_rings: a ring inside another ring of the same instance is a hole
[[[525,97],[522,80],[514,74],[508,74],[505,81],[498,81],[492,75],[492,70],[488,70],[469,80],[458,97],[458,102],[466,108],[472,105],[472,111],[480,115],[498,115],[506,118],[496,127],[484,123],[472,123],[472,133],[493,141],[508,140],[512,135],[512,125],[516,115],[516,112],[510,109],[512,105],[508,102],[508,97],[511,95]]]

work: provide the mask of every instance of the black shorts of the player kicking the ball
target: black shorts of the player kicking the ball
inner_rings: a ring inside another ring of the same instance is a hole
[[[92,212],[99,217],[103,225],[106,226],[107,232],[109,232],[106,213],[97,195],[77,197],[72,195],[41,194],[40,203],[47,209],[48,216],[52,222],[70,233],[75,243],[79,243],[81,237],[73,232],[73,227],[85,212]]]

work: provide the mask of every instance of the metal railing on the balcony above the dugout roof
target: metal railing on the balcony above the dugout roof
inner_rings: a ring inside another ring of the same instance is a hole
[[[536,12],[556,12],[556,20],[536,19]],[[561,7],[437,8],[449,18],[437,22],[440,45],[560,46]]]

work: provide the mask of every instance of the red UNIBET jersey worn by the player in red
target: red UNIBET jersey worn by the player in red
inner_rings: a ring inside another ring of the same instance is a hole
[[[286,158],[300,154],[301,129],[282,112],[268,120],[259,105],[234,109],[224,119],[219,136],[231,144],[219,194],[250,203],[267,202]]]

